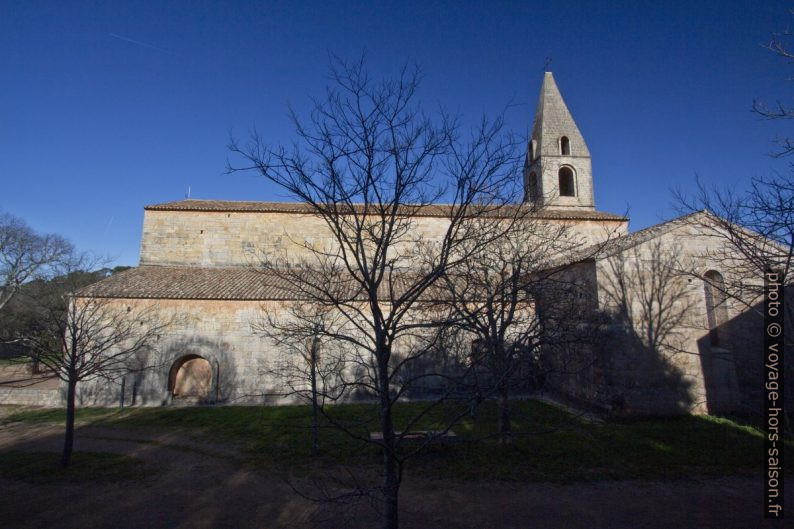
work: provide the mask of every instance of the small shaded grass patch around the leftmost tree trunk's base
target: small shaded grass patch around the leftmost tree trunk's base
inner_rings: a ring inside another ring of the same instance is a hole
[[[0,453],[0,476],[36,484],[117,482],[150,477],[152,471],[135,458],[103,452],[74,452],[67,468],[60,453]]]

